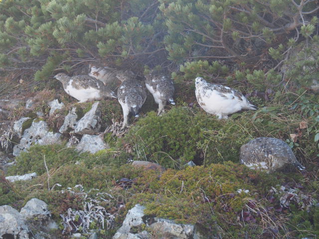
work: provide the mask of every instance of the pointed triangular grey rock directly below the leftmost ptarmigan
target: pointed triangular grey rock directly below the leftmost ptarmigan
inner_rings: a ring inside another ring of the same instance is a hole
[[[95,134],[101,129],[101,110],[98,108],[99,102],[92,105],[87,112],[75,125],[74,132],[79,134]]]

